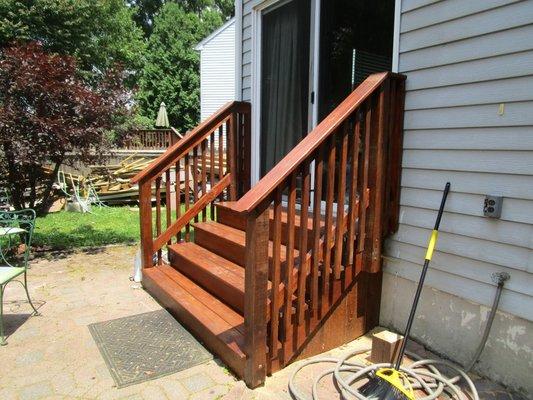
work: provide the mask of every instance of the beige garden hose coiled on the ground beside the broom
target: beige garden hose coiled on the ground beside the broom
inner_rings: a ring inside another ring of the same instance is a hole
[[[333,375],[335,384],[339,388],[343,398],[356,398],[359,400],[370,400],[371,398],[363,396],[357,391],[353,385],[365,378],[369,378],[379,368],[391,367],[389,363],[365,365],[364,363],[351,360],[361,353],[370,351],[370,348],[363,348],[353,351],[343,358],[317,358],[309,360],[301,365],[293,372],[289,379],[289,391],[297,400],[307,400],[295,384],[295,378],[298,372],[311,364],[331,363],[335,367],[323,371],[313,382],[312,398],[313,400],[320,400],[318,395],[318,385],[320,381],[328,375]],[[458,386],[462,380],[466,382],[470,389],[470,398],[472,400],[479,400],[476,387],[472,379],[458,366],[443,360],[422,359],[417,354],[406,352],[415,362],[408,367],[402,366],[400,369],[404,372],[411,382],[414,390],[422,390],[426,396],[420,397],[419,400],[433,400],[440,396],[443,392],[451,395],[452,398],[467,400],[464,391]],[[444,375],[438,368],[445,366],[452,370],[455,376],[448,377]],[[329,400],[329,399],[328,399]]]

